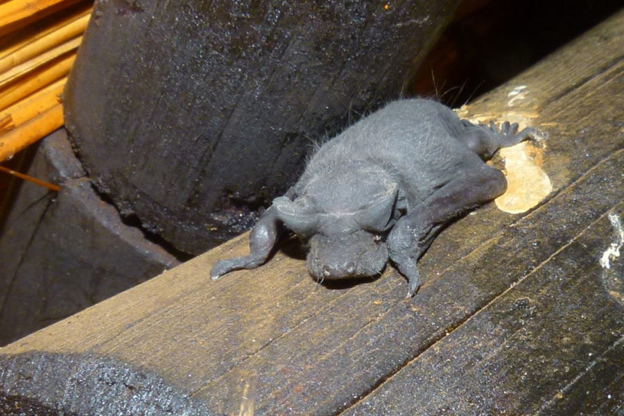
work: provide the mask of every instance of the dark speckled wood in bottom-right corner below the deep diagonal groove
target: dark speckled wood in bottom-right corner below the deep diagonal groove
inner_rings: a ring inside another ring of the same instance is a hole
[[[593,175],[613,180],[621,172],[624,150]],[[609,215],[624,218],[624,203],[343,414],[617,414],[624,404],[624,261],[600,266],[613,241]]]

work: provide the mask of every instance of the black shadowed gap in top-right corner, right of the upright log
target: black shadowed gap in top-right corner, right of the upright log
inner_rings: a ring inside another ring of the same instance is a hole
[[[412,93],[459,107],[623,6],[614,0],[465,0],[422,65]]]

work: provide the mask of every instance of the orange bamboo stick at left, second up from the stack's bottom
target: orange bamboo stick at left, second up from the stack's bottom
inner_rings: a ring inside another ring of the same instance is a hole
[[[61,78],[1,112],[0,135],[26,123],[28,120],[60,103],[59,96],[66,82],[67,77]]]

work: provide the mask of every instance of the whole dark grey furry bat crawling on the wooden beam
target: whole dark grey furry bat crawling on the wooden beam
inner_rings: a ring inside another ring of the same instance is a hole
[[[390,259],[413,296],[416,262],[441,227],[505,191],[503,173],[484,161],[534,134],[475,125],[435,101],[392,102],[323,144],[261,215],[250,254],[218,261],[210,276],[260,266],[291,229],[309,241],[316,279],[378,275]]]

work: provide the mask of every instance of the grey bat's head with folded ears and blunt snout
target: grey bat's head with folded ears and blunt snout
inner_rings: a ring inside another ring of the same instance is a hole
[[[394,224],[397,184],[360,180],[357,187],[273,201],[284,225],[309,239],[307,267],[316,279],[377,275],[388,262],[385,235]]]

